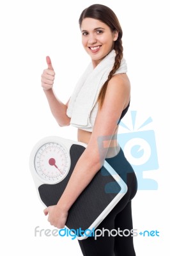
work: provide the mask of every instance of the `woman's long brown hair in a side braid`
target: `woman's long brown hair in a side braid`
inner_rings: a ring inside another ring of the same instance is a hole
[[[116,17],[116,14],[107,6],[103,4],[93,4],[89,6],[88,8],[84,9],[82,11],[81,16],[79,18],[79,26],[81,27],[82,20],[85,18],[92,18],[101,20],[104,22],[111,31],[118,31],[118,39],[114,42],[112,49],[116,52],[116,57],[114,61],[114,66],[112,67],[111,72],[109,73],[109,76],[107,78],[107,81],[105,81],[104,85],[102,86],[102,89],[100,90],[100,93],[98,95],[98,104],[99,108],[102,108],[102,104],[104,102],[105,92],[107,90],[107,84],[111,80],[112,76],[118,70],[120,67],[121,59],[123,57],[123,46],[122,46],[122,35],[123,31],[120,26],[120,22],[118,18]],[[111,50],[112,50],[111,49]]]

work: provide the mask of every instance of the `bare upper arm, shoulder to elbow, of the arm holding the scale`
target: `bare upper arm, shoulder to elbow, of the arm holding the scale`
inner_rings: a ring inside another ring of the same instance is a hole
[[[116,74],[107,85],[102,108],[98,108],[92,134],[95,134],[95,136],[113,134],[129,99],[130,82],[127,75]]]

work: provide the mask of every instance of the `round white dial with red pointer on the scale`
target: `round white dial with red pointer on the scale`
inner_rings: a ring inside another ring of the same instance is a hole
[[[65,179],[70,168],[68,150],[60,143],[45,143],[35,155],[35,170],[43,182],[58,183]]]

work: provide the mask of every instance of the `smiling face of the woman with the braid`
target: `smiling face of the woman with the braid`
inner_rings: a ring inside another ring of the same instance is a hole
[[[118,31],[111,31],[104,22],[85,18],[81,24],[82,45],[91,57],[95,68],[111,51],[113,41],[118,38]]]

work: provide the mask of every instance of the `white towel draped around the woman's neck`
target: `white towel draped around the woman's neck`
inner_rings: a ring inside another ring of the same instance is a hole
[[[84,74],[79,79],[68,103],[66,115],[71,120],[70,124],[75,127],[91,127],[89,116],[93,106],[97,102],[98,94],[109,73],[114,66],[116,52],[112,50],[105,58],[100,61],[97,67],[93,68],[92,63],[88,65]],[[127,63],[124,58],[121,60],[121,65],[114,74],[127,72]]]

